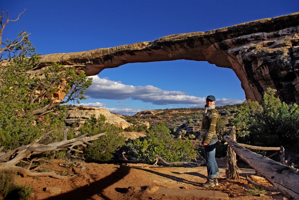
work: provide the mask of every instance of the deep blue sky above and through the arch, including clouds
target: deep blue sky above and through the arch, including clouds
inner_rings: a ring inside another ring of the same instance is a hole
[[[208,31],[299,11],[298,0],[12,0],[1,2],[6,19],[2,40],[22,30],[42,55],[89,51],[163,36]],[[207,84],[206,74],[216,81]],[[245,93],[231,69],[190,60],[131,63],[104,69],[86,90],[85,106],[134,115],[144,110],[203,108],[242,103]]]

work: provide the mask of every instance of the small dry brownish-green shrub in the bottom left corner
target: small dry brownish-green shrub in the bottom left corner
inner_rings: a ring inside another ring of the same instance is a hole
[[[15,183],[16,173],[10,170],[0,171],[0,194],[5,199],[28,199],[33,191],[32,186]]]

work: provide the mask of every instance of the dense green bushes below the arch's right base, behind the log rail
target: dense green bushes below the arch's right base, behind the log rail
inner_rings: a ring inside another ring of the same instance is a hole
[[[260,103],[246,100],[229,120],[237,128],[237,140],[255,146],[294,146],[299,142],[299,108],[275,97],[268,88]]]

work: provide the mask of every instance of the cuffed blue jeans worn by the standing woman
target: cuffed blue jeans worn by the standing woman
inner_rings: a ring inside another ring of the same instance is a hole
[[[220,175],[218,165],[216,163],[216,142],[218,138],[212,138],[210,143],[204,146],[205,158],[207,163],[208,178],[217,178]]]

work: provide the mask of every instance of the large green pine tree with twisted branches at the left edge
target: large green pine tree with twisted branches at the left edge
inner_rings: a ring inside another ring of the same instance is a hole
[[[40,55],[22,31],[14,40],[1,42],[0,48],[0,146],[4,151],[31,143],[35,138],[53,131],[62,138],[65,106],[69,101],[85,99],[85,89],[92,79],[84,71],[52,63],[39,68]],[[53,94],[60,90],[67,96],[55,102]],[[56,130],[56,131],[54,131]]]

